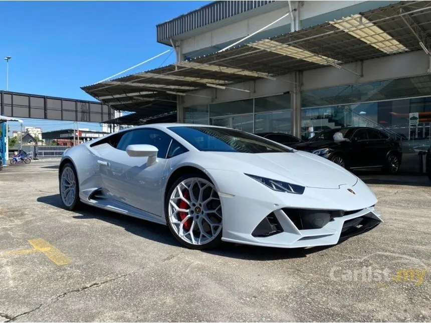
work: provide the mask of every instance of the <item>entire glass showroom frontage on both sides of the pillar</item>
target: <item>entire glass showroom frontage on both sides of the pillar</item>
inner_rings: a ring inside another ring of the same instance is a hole
[[[185,122],[247,132],[291,133],[290,94],[186,107]],[[329,128],[366,126],[407,141],[431,140],[431,75],[339,86],[301,93],[304,139]],[[418,113],[418,123],[411,122]]]

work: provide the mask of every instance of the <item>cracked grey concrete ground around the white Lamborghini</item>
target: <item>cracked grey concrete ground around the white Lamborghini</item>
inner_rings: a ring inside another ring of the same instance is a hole
[[[361,174],[385,222],[336,246],[202,252],[180,247],[161,225],[62,209],[57,164],[0,172],[0,321],[431,320],[426,177]],[[36,238],[72,262],[6,254]],[[400,269],[424,274],[396,281]]]

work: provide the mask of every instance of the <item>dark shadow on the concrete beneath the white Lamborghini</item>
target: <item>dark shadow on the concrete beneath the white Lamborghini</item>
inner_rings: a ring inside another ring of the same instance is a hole
[[[37,201],[64,210],[60,200],[60,194],[41,196],[37,199]],[[84,205],[80,209],[71,212],[71,214],[75,219],[98,219],[106,221],[108,223],[123,227],[126,231],[137,236],[172,246],[182,247],[172,236],[171,232],[169,231],[169,228],[165,225],[137,219],[131,216],[122,215],[87,205]],[[308,249],[286,249],[224,243],[217,249],[204,250],[202,252],[237,259],[266,261],[289,258],[303,258],[306,257],[308,254],[322,251],[330,247],[331,246],[313,247]]]

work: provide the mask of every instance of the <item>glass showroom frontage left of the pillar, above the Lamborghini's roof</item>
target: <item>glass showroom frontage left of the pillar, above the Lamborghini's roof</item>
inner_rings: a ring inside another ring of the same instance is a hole
[[[185,123],[291,133],[290,94],[184,108]]]

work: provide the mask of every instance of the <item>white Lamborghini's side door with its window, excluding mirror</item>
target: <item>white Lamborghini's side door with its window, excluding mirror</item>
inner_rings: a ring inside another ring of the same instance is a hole
[[[143,128],[128,131],[114,151],[104,154],[110,176],[104,186],[110,198],[160,216],[162,214],[162,181],[166,154],[172,138],[157,129]],[[158,149],[157,162],[147,166],[148,157],[131,157],[129,145],[152,145]]]

